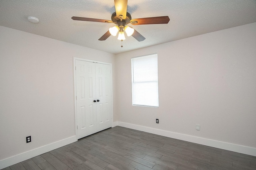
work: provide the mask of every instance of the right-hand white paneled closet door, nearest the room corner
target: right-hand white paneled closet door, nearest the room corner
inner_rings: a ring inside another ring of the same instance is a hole
[[[95,63],[97,96],[97,130],[112,126],[111,66]]]

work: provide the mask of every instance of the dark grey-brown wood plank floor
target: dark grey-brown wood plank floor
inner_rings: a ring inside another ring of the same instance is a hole
[[[114,127],[4,170],[256,170],[256,156]]]

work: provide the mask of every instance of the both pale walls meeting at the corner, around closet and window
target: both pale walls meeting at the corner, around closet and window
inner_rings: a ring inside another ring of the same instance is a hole
[[[74,139],[73,57],[112,63],[114,122],[256,149],[255,30],[251,23],[113,55],[0,26],[0,161]],[[130,59],[152,53],[160,106],[132,106]]]

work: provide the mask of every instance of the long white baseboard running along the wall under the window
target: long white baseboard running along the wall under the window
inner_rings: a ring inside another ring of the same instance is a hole
[[[130,129],[135,129],[138,131],[144,131],[144,132],[153,133],[156,135],[161,135],[161,136],[170,137],[170,138],[174,138],[174,139],[180,139],[182,141],[198,143],[198,144],[206,145],[209,147],[215,147],[215,148],[219,148],[219,149],[225,149],[225,150],[230,150],[233,152],[239,152],[239,153],[243,153],[243,154],[256,156],[256,148],[252,148],[252,147],[246,147],[246,146],[242,146],[242,145],[236,145],[236,144],[226,143],[226,142],[221,142],[221,141],[214,141],[212,139],[205,139],[205,138],[201,138],[201,137],[184,135],[181,133],[174,133],[174,132],[170,132],[170,131],[164,131],[164,130],[160,130],[160,129],[154,129],[151,127],[144,127],[144,126],[134,125],[134,124],[130,124],[130,123],[124,123],[124,122],[120,122],[120,121],[117,122],[117,125],[122,126],[122,127],[127,127]]]

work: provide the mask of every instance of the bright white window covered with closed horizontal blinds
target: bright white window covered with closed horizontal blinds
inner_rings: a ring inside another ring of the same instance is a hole
[[[132,58],[132,105],[159,106],[157,54]]]

